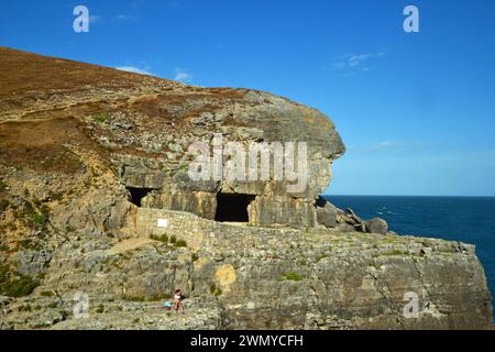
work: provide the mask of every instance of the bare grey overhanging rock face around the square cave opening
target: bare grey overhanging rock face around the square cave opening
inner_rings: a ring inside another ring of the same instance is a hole
[[[215,219],[217,195],[230,194],[239,195],[231,198],[234,208],[235,199],[242,204],[249,199],[243,211],[248,211],[248,221],[252,224],[315,227],[315,200],[330,184],[333,160],[344,153],[330,119],[315,109],[267,92],[188,90],[186,87],[183,90],[180,96],[174,96],[175,103],[180,99],[180,117],[173,118],[173,123],[156,120],[142,133],[133,132],[140,148],[148,147],[156,155],[114,155],[114,164],[128,187],[151,190],[142,206],[185,210]],[[155,103],[164,111],[170,110],[172,116],[176,107],[168,100],[160,97]],[[125,116],[125,121],[120,123],[135,125],[136,121],[140,119]],[[109,131],[119,129],[110,127]],[[132,131],[140,131],[140,124]],[[110,144],[114,138],[103,141]],[[237,143],[234,153],[229,150],[232,142]],[[193,180],[188,175],[188,167],[195,162],[189,151],[195,143],[202,143],[210,153],[209,179]],[[221,160],[213,158],[217,145],[221,147]],[[254,163],[250,153],[255,153]],[[263,164],[261,153],[266,153],[267,164]],[[229,178],[229,163],[233,167],[231,170],[235,175],[240,172],[241,177]],[[223,177],[213,176],[219,164]],[[263,174],[266,165],[267,173]]]

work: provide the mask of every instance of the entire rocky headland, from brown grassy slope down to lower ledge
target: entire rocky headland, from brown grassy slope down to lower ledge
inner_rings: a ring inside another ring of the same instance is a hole
[[[7,48],[0,64],[1,328],[492,324],[473,246],[398,237],[317,201],[344,153],[319,111]],[[191,180],[190,145],[219,138],[306,142],[308,187],[288,193],[294,179],[273,170]],[[157,308],[177,287],[179,318]]]

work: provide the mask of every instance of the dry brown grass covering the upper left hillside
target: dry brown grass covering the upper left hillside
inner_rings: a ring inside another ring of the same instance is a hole
[[[172,120],[215,113],[231,100],[244,99],[248,91],[185,89],[165,79],[0,47],[0,164],[76,173],[81,165],[64,146],[67,143],[103,158],[110,153],[141,154],[139,148],[111,152],[98,145],[95,132],[85,128],[87,118],[118,111],[139,119],[146,116],[141,123],[154,131],[164,122],[172,125]],[[234,119],[226,122],[244,125]],[[187,124],[177,129],[183,125]]]

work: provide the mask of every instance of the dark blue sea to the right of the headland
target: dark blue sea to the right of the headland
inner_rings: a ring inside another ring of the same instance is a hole
[[[476,245],[488,287],[495,294],[495,198],[324,196],[363,219],[382,218],[399,234],[431,237]],[[495,320],[495,319],[494,319]]]

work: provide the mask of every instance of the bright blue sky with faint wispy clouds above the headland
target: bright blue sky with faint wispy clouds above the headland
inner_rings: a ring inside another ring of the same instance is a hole
[[[87,6],[89,33],[73,31]],[[415,4],[420,32],[403,30]],[[495,1],[16,1],[0,45],[199,86],[267,90],[336,122],[339,195],[495,196]]]

